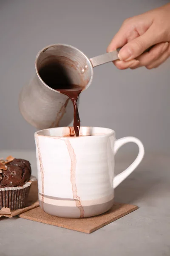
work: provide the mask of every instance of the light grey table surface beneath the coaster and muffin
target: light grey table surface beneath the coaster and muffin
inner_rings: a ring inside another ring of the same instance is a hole
[[[0,151],[31,162],[34,151]],[[135,155],[118,155],[116,173]],[[139,209],[91,234],[26,219],[0,219],[0,256],[170,256],[170,156],[145,154],[141,165],[115,191],[115,201]]]

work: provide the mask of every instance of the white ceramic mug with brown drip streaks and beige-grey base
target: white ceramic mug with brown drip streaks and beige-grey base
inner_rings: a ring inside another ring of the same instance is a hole
[[[114,189],[144,157],[135,137],[115,139],[108,128],[50,128],[35,133],[40,207],[51,215],[83,218],[102,214],[113,206]],[[114,176],[114,156],[126,143],[136,143],[139,154],[122,173]]]

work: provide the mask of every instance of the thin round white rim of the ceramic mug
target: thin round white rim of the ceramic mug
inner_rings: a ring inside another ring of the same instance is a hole
[[[48,137],[48,138],[60,138],[62,140],[66,140],[66,139],[82,139],[82,138],[85,138],[85,137],[88,137],[88,138],[99,138],[99,137],[110,137],[112,135],[115,135],[115,131],[111,128],[105,128],[105,127],[99,127],[99,126],[80,126],[80,128],[95,128],[95,129],[106,129],[107,131],[110,131],[108,133],[105,133],[104,134],[98,134],[98,135],[92,135],[92,136],[89,136],[89,135],[83,135],[83,136],[50,136],[50,135],[43,135],[43,134],[39,134],[40,132],[43,132],[43,131],[49,131],[49,130],[54,130],[54,129],[64,129],[64,128],[73,128],[73,126],[63,126],[63,127],[54,127],[54,128],[47,128],[47,129],[42,129],[42,130],[39,130],[39,131],[36,131],[34,133],[34,137],[36,136],[41,136],[41,137]]]

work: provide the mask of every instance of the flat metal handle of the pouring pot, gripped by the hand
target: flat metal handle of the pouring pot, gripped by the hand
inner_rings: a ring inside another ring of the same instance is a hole
[[[153,47],[153,46],[149,47],[149,48],[146,49],[144,52],[149,52],[152,47]],[[118,60],[118,59],[119,59],[119,58],[118,58],[118,53],[119,53],[119,50],[120,50],[120,49],[121,49],[121,48],[118,48],[118,49],[116,49],[116,51],[108,52],[108,53],[105,53],[105,54],[102,54],[102,55],[99,55],[99,56],[90,58],[90,61],[91,61],[92,66],[93,66],[93,67],[96,67],[96,66],[105,64],[105,63],[107,63],[107,62],[110,62],[110,61]],[[144,52],[143,52],[143,53],[144,53]]]

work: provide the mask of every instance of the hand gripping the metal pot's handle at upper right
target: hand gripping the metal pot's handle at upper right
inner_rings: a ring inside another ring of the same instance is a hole
[[[159,67],[170,56],[170,3],[142,15],[128,18],[114,36],[107,52],[119,47],[119,69]],[[155,45],[149,52],[143,53]],[[143,54],[142,54],[143,53]]]

